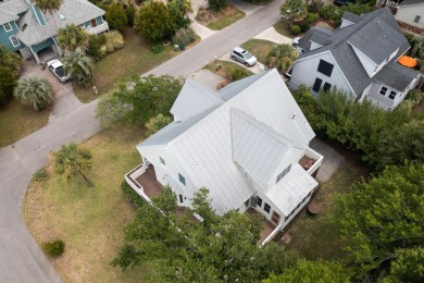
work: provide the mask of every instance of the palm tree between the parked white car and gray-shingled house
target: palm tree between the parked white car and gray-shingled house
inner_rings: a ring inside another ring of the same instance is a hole
[[[278,45],[271,49],[266,57],[266,65],[276,67],[279,73],[284,73],[289,69],[294,61],[298,58],[298,53],[289,45]]]

